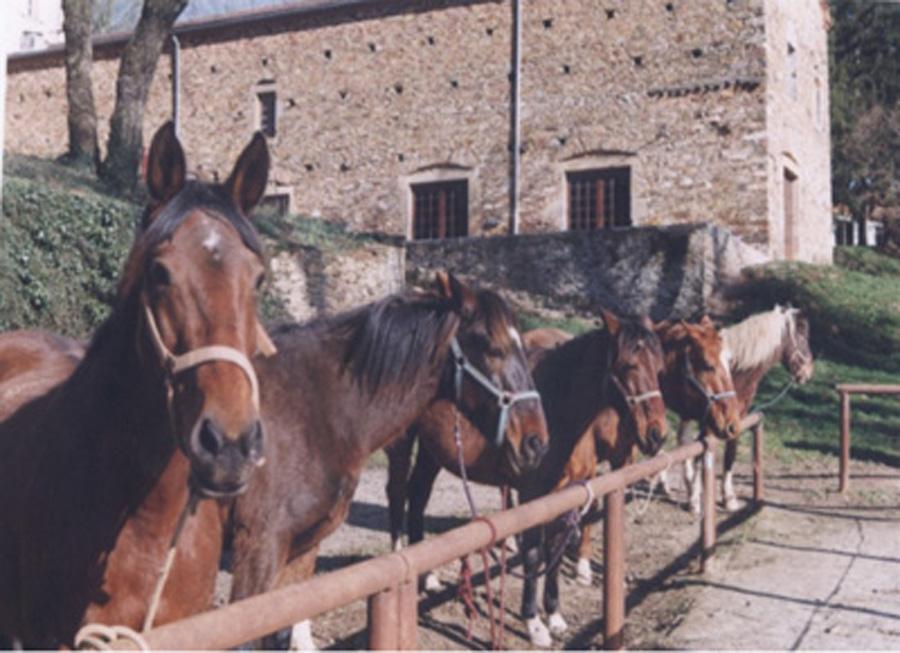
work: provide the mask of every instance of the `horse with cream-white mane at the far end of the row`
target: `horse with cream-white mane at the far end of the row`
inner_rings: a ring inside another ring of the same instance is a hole
[[[721,334],[741,417],[749,413],[760,382],[778,361],[790,373],[792,383],[802,385],[812,378],[814,364],[809,348],[809,322],[798,309],[775,306],[771,311],[722,329]],[[689,440],[690,431],[685,424],[679,427],[678,438],[682,443]],[[739,507],[732,472],[737,445],[737,440],[728,440],[723,457],[722,500],[730,512]],[[691,510],[699,512],[700,484],[694,480],[693,470],[685,466]]]

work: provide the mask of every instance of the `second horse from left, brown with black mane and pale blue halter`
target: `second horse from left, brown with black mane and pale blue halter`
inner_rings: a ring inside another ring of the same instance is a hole
[[[278,355],[257,366],[272,461],[235,502],[233,600],[309,577],[370,454],[435,399],[500,438],[514,469],[533,467],[545,448],[512,312],[452,275],[438,275],[437,293],[393,295],[274,339]],[[308,622],[292,640],[313,644]]]

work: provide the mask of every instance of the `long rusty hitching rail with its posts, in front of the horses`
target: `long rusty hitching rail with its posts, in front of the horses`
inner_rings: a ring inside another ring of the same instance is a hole
[[[762,419],[751,415],[743,430],[752,430],[754,499],[762,500]],[[581,507],[594,497],[604,498],[604,644],[619,649],[625,628],[625,488],[650,478],[672,464],[703,455],[706,498],[701,525],[703,562],[715,550],[714,449],[692,442],[651,459],[570,486],[541,499],[472,521],[447,533],[394,553],[378,556],[337,571],[315,576],[260,594],[218,610],[154,628],[144,634],[151,649],[229,649],[281,628],[312,619],[354,601],[368,599],[369,646],[373,649],[414,649],[417,643],[417,580],[494,541],[547,523]],[[113,643],[127,649],[126,641]]]

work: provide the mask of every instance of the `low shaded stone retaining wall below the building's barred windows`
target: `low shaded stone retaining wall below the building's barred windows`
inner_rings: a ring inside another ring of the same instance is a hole
[[[607,307],[654,320],[723,311],[720,291],[765,257],[715,225],[407,243],[406,278],[448,269],[531,310]]]

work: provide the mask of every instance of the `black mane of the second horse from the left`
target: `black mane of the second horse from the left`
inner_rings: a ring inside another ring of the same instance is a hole
[[[370,395],[385,388],[407,392],[424,364],[433,365],[440,345],[458,326],[450,302],[432,293],[403,292],[306,324],[277,327],[273,335],[308,334],[343,346],[340,365]]]

